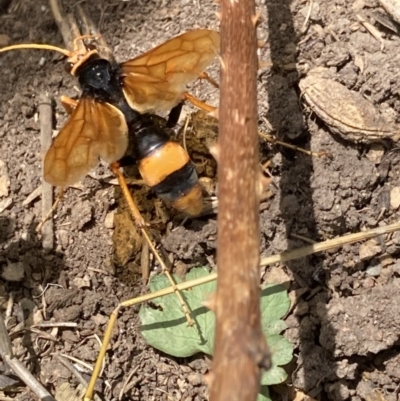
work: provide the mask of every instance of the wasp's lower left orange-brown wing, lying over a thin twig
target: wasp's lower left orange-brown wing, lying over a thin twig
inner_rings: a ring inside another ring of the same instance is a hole
[[[83,97],[60,130],[44,159],[44,179],[66,187],[84,177],[98,163],[119,160],[128,146],[124,115],[108,103]]]

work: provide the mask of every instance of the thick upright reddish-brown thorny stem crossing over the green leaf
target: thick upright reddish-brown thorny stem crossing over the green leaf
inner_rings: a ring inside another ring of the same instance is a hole
[[[257,398],[270,364],[261,329],[257,37],[253,0],[221,0],[218,282],[210,400]]]

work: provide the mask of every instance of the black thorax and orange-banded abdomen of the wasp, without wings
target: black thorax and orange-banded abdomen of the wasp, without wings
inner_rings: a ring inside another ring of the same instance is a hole
[[[98,56],[90,58],[77,71],[82,96],[109,103],[124,115],[133,141],[135,159],[146,184],[164,201],[188,214],[202,209],[201,188],[194,165],[186,151],[171,142],[166,129],[149,114],[132,109],[122,90],[119,65]],[[173,109],[167,126],[175,124],[182,105]],[[164,167],[163,167],[164,166]]]

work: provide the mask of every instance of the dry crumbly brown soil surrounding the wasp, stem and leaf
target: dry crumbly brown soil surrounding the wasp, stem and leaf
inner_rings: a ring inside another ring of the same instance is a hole
[[[73,7],[77,2],[69,3]],[[186,30],[218,29],[218,5],[211,0],[88,3],[120,61]],[[305,104],[298,87],[309,70],[325,67],[335,81],[368,99],[388,123],[398,123],[400,38],[371,19],[383,11],[379,2],[259,0],[257,10],[263,45],[260,129],[328,153],[310,157],[262,142],[260,160],[272,160],[273,185],[272,197],[260,208],[261,254],[395,222],[400,206],[396,143],[358,144],[332,134]],[[360,16],[381,39],[371,35]],[[62,46],[45,0],[11,0],[1,10],[0,27],[1,46]],[[140,278],[142,240],[119,190],[109,183],[106,165],[68,189],[54,218],[54,250],[43,250],[35,232],[41,220],[40,194],[26,200],[41,183],[38,97],[47,92],[55,99],[54,128],[59,129],[66,120],[59,97],[78,95],[76,82],[63,67],[58,54],[45,51],[0,57],[0,188],[8,188],[0,193],[1,308],[7,310],[16,356],[53,394],[65,381],[76,383],[56,354],[93,364],[95,335],[102,337],[107,316],[120,301],[145,289]],[[217,70],[213,74],[217,77]],[[196,83],[192,93],[217,105],[218,93],[207,84]],[[193,154],[201,161],[206,148],[196,146]],[[200,173],[212,184],[215,164],[207,166]],[[176,268],[214,263],[215,214],[181,225],[179,216],[147,188],[135,186],[135,198]],[[287,316],[285,334],[296,347],[289,369],[290,383],[299,394],[335,401],[400,399],[399,254],[400,234],[395,233],[263,270],[263,280],[273,275],[301,294],[302,307]],[[96,387],[103,399],[208,399],[199,377],[208,371],[209,360],[173,359],[147,346],[139,333],[137,310],[125,310],[118,319]],[[75,326],[31,328],[42,320]],[[0,379],[4,396],[33,399],[4,364]]]

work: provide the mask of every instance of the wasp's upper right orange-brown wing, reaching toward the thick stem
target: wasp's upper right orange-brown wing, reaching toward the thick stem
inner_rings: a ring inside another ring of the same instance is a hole
[[[172,109],[182,100],[186,85],[213,62],[219,41],[218,32],[197,29],[122,63],[129,105],[140,113]]]

